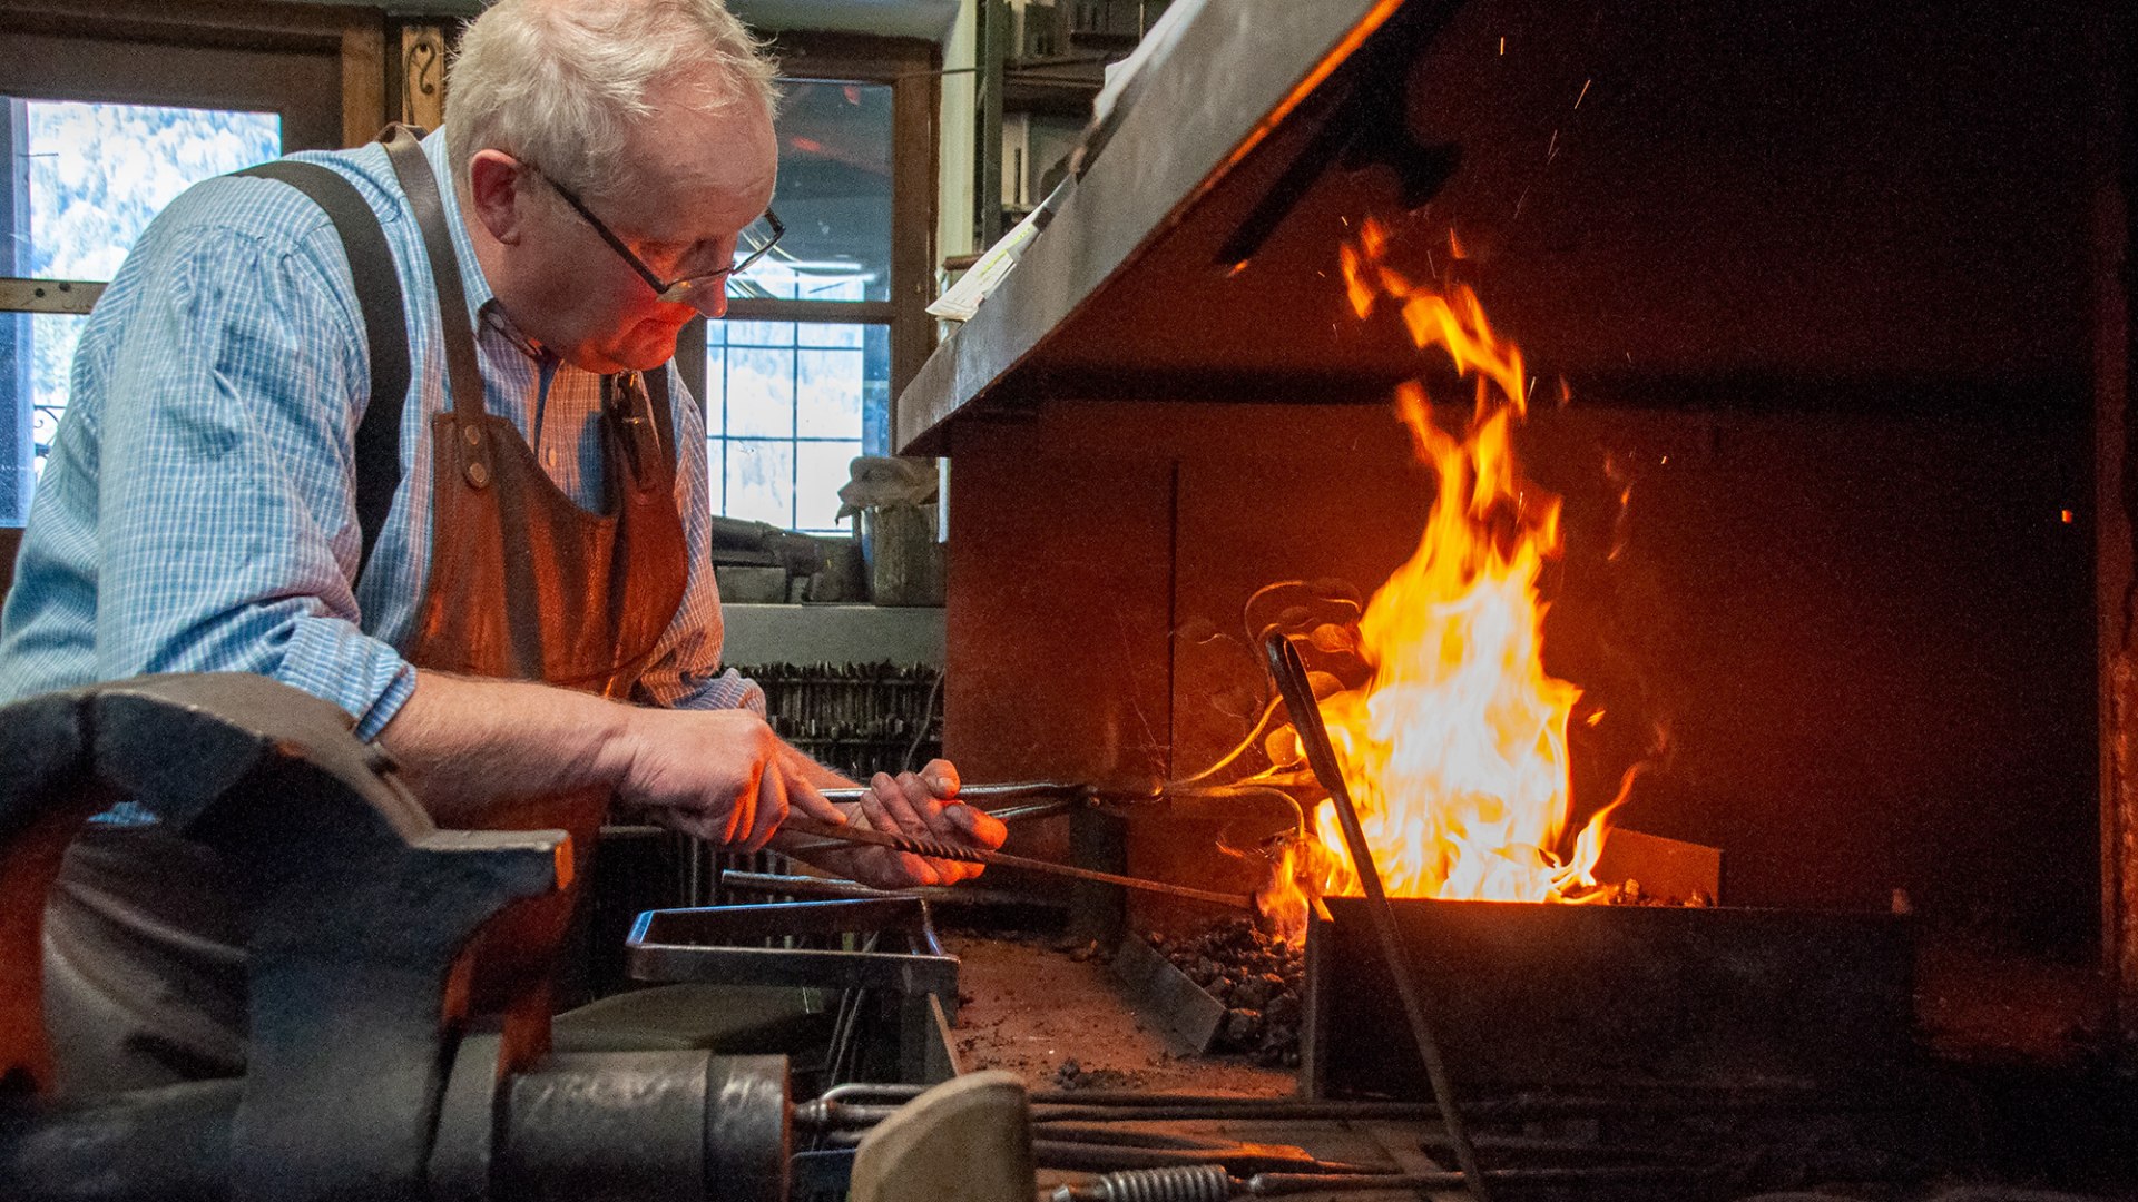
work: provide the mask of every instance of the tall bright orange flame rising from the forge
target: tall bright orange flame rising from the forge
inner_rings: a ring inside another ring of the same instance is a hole
[[[1559,552],[1559,498],[1529,486],[1512,426],[1527,415],[1522,353],[1486,323],[1469,289],[1439,293],[1388,265],[1368,220],[1343,248],[1362,319],[1392,306],[1420,349],[1475,381],[1458,438],[1432,421],[1422,383],[1396,413],[1439,492],[1411,560],[1373,595],[1360,650],[1364,689],[1321,704],[1345,785],[1392,896],[1571,900],[1595,888],[1606,813],[1559,856],[1571,808],[1567,719],[1580,691],[1544,672],[1537,573]],[[1321,892],[1358,892],[1332,806],[1317,819],[1332,856]]]

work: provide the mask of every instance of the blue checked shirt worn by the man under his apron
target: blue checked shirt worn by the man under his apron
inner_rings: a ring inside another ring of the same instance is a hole
[[[453,203],[445,137],[423,139],[423,154],[460,255],[483,404],[567,496],[599,507],[601,379],[513,329]],[[370,364],[348,257],[295,188],[207,180],[150,225],[83,327],[0,616],[0,702],[148,672],[257,672],[336,702],[370,738],[415,691],[400,648],[430,573],[430,419],[449,409],[438,295],[381,145],[295,158],[348,175],[372,203],[413,314],[402,481],[361,586],[353,436]],[[691,580],[637,699],[763,712],[763,693],[718,667],[706,428],[667,372]]]

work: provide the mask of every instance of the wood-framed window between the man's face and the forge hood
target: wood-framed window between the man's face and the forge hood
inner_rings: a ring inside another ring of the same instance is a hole
[[[900,148],[932,148],[934,47],[885,45],[776,47],[789,71],[774,197],[787,235],[729,282],[727,321],[706,323],[706,374],[693,381],[712,505],[729,518],[840,533],[849,464],[892,453],[892,398],[930,349],[934,175]]]

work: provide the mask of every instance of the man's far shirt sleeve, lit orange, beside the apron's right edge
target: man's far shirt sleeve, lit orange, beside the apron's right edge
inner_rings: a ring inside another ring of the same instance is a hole
[[[706,421],[697,400],[669,366],[676,430],[676,509],[691,554],[676,620],[654,648],[654,663],[639,678],[639,697],[671,710],[750,710],[765,714],[765,691],[733,667],[721,667],[725,627],[721,588],[712,575],[712,496],[706,468]]]

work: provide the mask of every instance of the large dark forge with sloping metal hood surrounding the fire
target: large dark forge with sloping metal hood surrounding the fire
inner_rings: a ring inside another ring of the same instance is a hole
[[[1578,695],[1546,866],[1586,864],[1610,811],[1706,849],[1719,905],[1398,898],[1458,1082],[1956,1074],[2016,1112],[2020,1078],[2110,1080],[2138,1014],[2121,36],[2014,4],[1187,24],[900,398],[902,447],[951,462],[945,751],[981,781],[1300,785],[1259,637],[1341,652],[1447,503],[1420,423],[1527,406],[1512,486],[1462,500],[1488,543],[1554,507],[1535,629]],[[1375,227],[1522,357],[1362,306],[1345,261]],[[1311,663],[1338,742],[1362,659]],[[1221,830],[1082,813],[1016,843],[1253,890]],[[1360,903],[1326,900],[1298,1087],[1422,1099]]]

